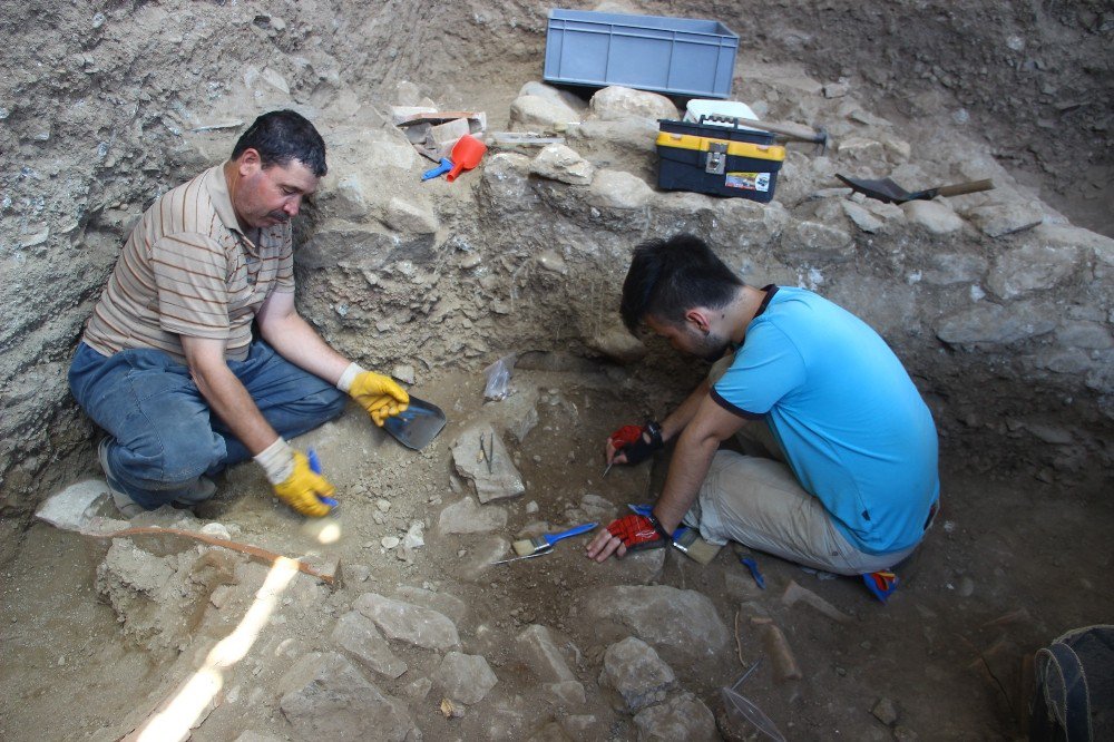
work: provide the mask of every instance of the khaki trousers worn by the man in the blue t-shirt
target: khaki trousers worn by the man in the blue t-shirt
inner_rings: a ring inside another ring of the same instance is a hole
[[[732,358],[712,367],[714,383]],[[745,453],[716,451],[696,502],[684,517],[713,544],[739,541],[815,569],[840,575],[888,569],[916,546],[881,556],[856,548],[824,506],[801,487],[764,420],[747,420],[736,438]]]

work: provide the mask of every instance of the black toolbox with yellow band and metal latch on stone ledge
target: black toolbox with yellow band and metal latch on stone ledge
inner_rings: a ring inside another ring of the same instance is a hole
[[[733,125],[723,117],[700,121],[658,119],[657,187],[769,203],[778,186],[785,148],[774,135]],[[711,117],[709,117],[711,118]]]

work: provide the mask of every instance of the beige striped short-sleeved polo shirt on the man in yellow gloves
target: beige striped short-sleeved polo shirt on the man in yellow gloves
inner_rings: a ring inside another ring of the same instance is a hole
[[[217,165],[144,213],[82,340],[104,355],[154,348],[185,364],[179,336],[211,338],[226,341],[226,359],[244,360],[264,300],[294,291],[293,266],[290,223],[248,240]]]

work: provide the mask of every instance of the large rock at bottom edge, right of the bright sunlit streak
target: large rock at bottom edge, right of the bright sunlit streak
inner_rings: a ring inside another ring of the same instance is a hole
[[[278,685],[278,706],[301,739],[365,740],[372,729],[377,740],[391,742],[419,734],[404,703],[334,652],[303,656]]]

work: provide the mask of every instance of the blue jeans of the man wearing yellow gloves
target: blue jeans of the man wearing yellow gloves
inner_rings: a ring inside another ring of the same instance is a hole
[[[263,417],[283,438],[332,420],[345,396],[290,363],[262,340],[228,368]],[[213,414],[189,369],[154,349],[101,355],[80,343],[69,370],[78,404],[109,435],[108,463],[116,485],[147,509],[190,501],[199,478],[251,458]]]

